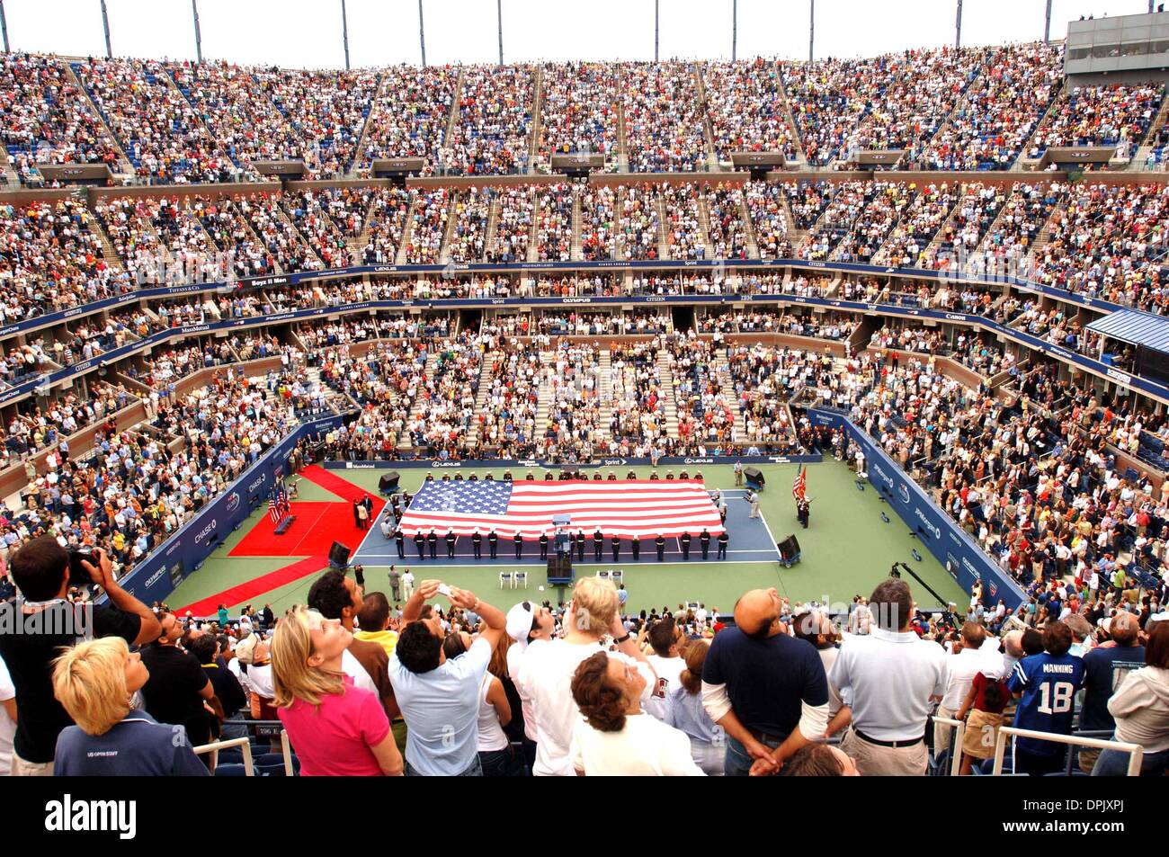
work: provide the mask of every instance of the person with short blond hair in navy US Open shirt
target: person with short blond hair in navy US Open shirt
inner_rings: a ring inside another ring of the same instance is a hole
[[[53,662],[53,693],[76,723],[57,738],[56,776],[207,776],[181,726],[136,711],[150,678],[122,637],[88,640]]]

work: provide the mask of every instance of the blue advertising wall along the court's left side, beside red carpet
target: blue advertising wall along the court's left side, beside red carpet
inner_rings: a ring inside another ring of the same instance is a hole
[[[203,560],[236,530],[268,495],[284,470],[297,442],[318,431],[328,431],[341,423],[341,416],[306,422],[264,452],[260,459],[233,482],[227,491],[184,524],[159,545],[129,576],[122,588],[150,604],[165,600]],[[104,600],[104,599],[103,599]]]

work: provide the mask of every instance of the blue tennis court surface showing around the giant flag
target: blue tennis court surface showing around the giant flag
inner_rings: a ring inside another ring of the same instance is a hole
[[[725,490],[722,491],[722,497],[727,502],[727,534],[729,535],[729,541],[727,542],[727,558],[726,561],[731,562],[775,562],[780,558],[780,552],[775,547],[775,539],[772,538],[772,533],[767,528],[767,523],[763,520],[762,513],[759,518],[750,517],[750,504],[746,500],[746,490]],[[455,555],[454,558],[447,555],[447,541],[444,539],[445,532],[441,528],[436,528],[435,532],[438,535],[438,545],[435,554],[435,559],[430,559],[430,550],[424,546],[426,558],[419,557],[417,547],[414,540],[410,538],[406,539],[404,544],[404,557],[397,555],[397,546],[394,539],[386,539],[381,534],[381,519],[385,516],[386,509],[382,509],[378,513],[378,518],[374,525],[371,527],[369,532],[366,534],[361,545],[350,558],[350,562],[353,565],[361,566],[388,566],[395,562],[434,562],[435,565],[443,566],[477,566],[477,565],[498,565],[498,566],[516,566],[519,565],[532,565],[532,566],[545,566],[546,560],[540,559],[540,546],[535,541],[525,541],[524,550],[520,559],[516,559],[516,545],[511,539],[499,539],[498,551],[496,559],[491,559],[490,552],[487,550],[486,537],[483,539],[483,559],[475,558],[475,551],[471,545],[470,537],[462,537],[455,542]],[[569,527],[572,530],[572,527]],[[575,530],[572,532],[575,533]],[[549,553],[552,553],[552,547],[549,545]],[[708,562],[715,562],[715,557],[718,554],[718,539],[711,539],[711,553]],[[573,551],[573,560],[581,561],[575,552]],[[603,550],[601,551],[601,561],[609,562],[613,560],[611,541],[609,539],[604,540]],[[703,550],[698,542],[698,537],[694,537],[690,545],[690,561],[703,561]],[[593,547],[593,533],[584,533],[584,562],[596,562],[596,553]],[[621,542],[621,555],[617,560],[622,565],[643,565],[643,564],[656,564],[657,550],[653,546],[653,539],[642,539],[641,545],[641,558],[635,561],[632,551],[630,551],[629,542]],[[682,562],[682,545],[676,538],[669,538],[665,542],[665,554],[663,557],[665,562]]]

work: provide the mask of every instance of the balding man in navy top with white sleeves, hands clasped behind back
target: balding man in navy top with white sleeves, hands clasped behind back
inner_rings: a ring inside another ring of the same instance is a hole
[[[828,726],[828,678],[819,654],[788,636],[775,589],[752,589],[734,624],[714,636],[703,666],[703,704],[726,733],[727,776],[776,773]]]

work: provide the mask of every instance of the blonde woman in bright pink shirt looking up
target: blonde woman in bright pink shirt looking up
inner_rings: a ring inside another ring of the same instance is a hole
[[[281,723],[303,776],[400,776],[402,754],[373,691],[353,686],[341,655],[353,635],[337,620],[293,607],[272,636]]]

